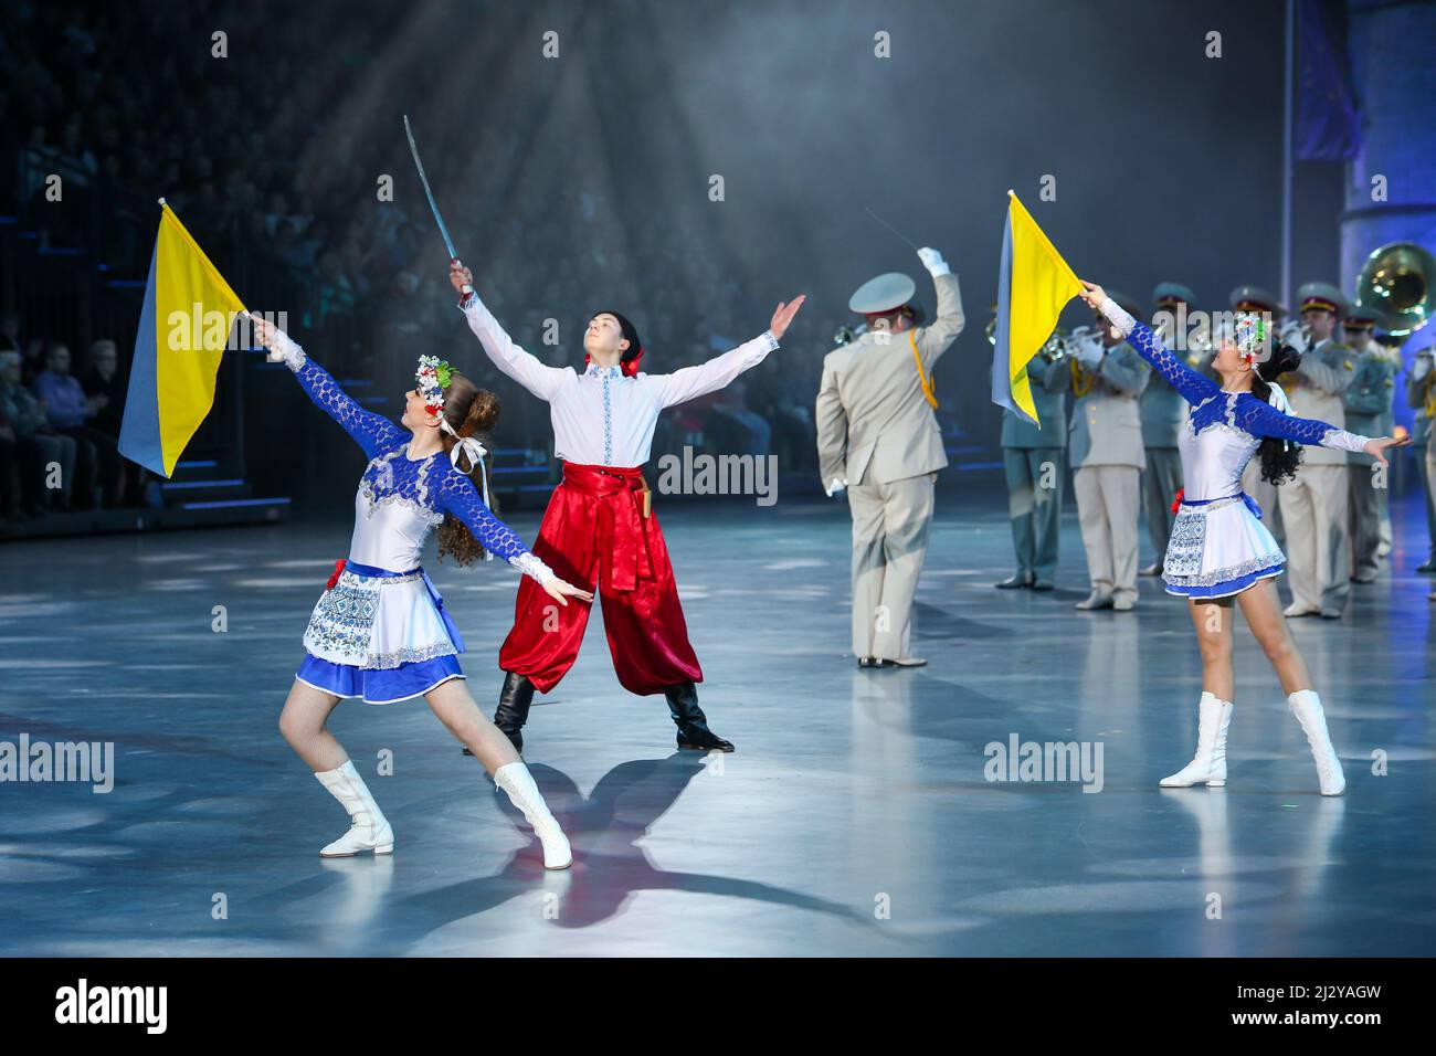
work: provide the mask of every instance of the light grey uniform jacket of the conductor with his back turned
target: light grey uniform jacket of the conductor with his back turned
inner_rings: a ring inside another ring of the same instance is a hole
[[[823,487],[889,484],[933,473],[948,464],[942,430],[932,412],[912,356],[918,342],[931,375],[966,322],[955,274],[933,279],[938,318],[900,333],[869,332],[823,359],[817,394],[817,455]]]

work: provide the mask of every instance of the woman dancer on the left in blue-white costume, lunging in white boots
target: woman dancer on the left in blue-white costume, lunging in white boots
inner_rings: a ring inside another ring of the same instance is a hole
[[[438,527],[439,555],[468,563],[485,549],[504,557],[559,605],[593,595],[559,579],[534,557],[474,487],[484,473],[485,432],[498,401],[434,356],[421,356],[416,385],[405,394],[399,425],[356,404],[304,349],[269,320],[251,318],[256,339],[294,372],[304,392],[369,455],[355,497],[348,559],[337,562],[304,632],[307,657],[280,715],[290,747],[349,812],[349,832],[320,855],[393,851],[393,829],[353,761],[325,728],[342,697],[389,704],[422,695],[439,721],[468,746],[494,783],[508,793],[543,842],[544,866],[564,869],[573,855],[528,769],[508,738],[464,688],[457,654],[462,638],[419,555]],[[442,457],[441,457],[442,455]],[[460,461],[468,463],[467,470]],[[485,487],[487,491],[487,487]]]

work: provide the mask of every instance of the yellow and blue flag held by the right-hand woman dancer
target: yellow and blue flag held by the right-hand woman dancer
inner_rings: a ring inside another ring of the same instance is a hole
[[[1057,329],[1067,302],[1083,290],[1067,261],[1031,214],[1008,191],[998,272],[992,348],[992,402],[1041,427],[1027,382],[1027,363]]]

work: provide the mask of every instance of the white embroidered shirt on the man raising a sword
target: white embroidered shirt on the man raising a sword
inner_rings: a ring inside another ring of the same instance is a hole
[[[478,295],[470,295],[461,307],[494,366],[549,401],[553,453],[579,466],[642,466],[665,407],[721,389],[778,348],[778,339],[764,330],[707,363],[672,374],[625,378],[620,368],[596,363],[579,374],[572,366],[549,366],[518,348]]]

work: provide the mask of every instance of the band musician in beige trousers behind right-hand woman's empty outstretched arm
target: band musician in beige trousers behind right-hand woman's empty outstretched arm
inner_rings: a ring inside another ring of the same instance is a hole
[[[1310,335],[1301,365],[1279,379],[1298,418],[1346,428],[1346,392],[1356,376],[1356,356],[1335,341],[1344,312],[1330,283],[1297,290],[1301,325]],[[1287,527],[1291,605],[1288,616],[1338,619],[1351,592],[1351,540],[1347,532],[1347,455],[1323,447],[1302,448],[1295,478],[1279,494]]]

